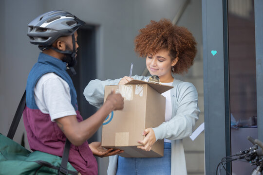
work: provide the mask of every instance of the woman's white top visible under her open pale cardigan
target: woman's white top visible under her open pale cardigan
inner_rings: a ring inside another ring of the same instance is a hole
[[[172,86],[170,83],[162,83],[162,85]],[[165,122],[171,120],[172,118],[172,107],[171,107],[171,90],[165,91],[162,95],[166,98],[165,100]],[[165,142],[171,143],[171,140],[164,139]]]

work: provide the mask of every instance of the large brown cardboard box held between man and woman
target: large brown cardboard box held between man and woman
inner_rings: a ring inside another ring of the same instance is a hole
[[[157,140],[150,151],[138,149],[143,131],[165,121],[165,97],[173,87],[132,80],[126,85],[105,86],[105,98],[112,89],[121,93],[124,108],[113,111],[102,126],[102,146],[124,150],[122,157],[163,157],[164,140]]]

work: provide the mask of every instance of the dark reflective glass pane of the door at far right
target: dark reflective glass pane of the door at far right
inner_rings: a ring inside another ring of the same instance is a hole
[[[231,154],[258,138],[254,0],[228,0],[228,59]],[[249,175],[254,167],[233,161],[233,175]]]

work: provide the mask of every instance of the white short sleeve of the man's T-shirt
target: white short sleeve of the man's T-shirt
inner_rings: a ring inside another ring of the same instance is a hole
[[[53,72],[39,78],[34,97],[39,110],[49,114],[52,122],[61,117],[76,115],[71,105],[68,83]]]

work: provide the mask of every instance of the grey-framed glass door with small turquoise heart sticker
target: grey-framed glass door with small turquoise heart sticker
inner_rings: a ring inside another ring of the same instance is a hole
[[[202,0],[206,174],[263,141],[263,1]],[[221,174],[247,175],[249,162]]]

